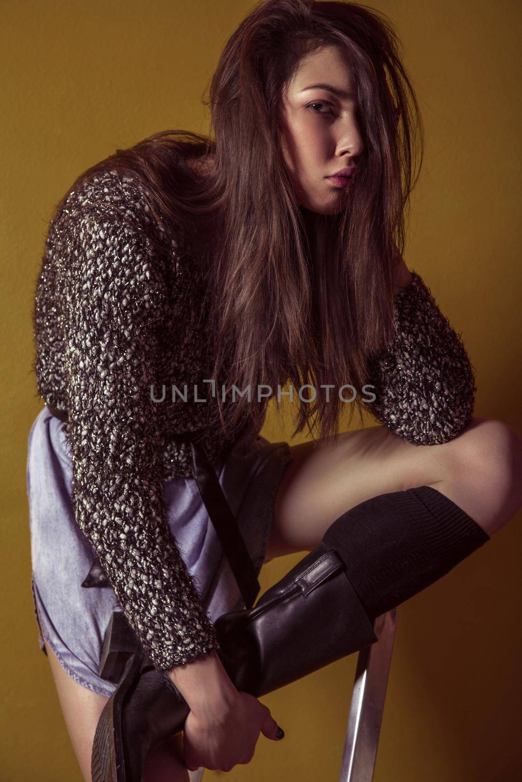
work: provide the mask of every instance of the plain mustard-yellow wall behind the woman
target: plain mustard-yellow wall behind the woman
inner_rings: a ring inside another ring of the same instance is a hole
[[[201,97],[246,0],[3,0],[2,716],[0,779],[80,782],[31,604],[27,435],[34,282],[52,207],[81,171],[167,127],[207,132]],[[478,416],[522,434],[520,4],[380,0],[427,129],[405,260],[477,371]],[[368,421],[373,424],[374,421]],[[264,434],[288,439],[270,421]],[[347,480],[350,476],[347,475]],[[520,778],[520,514],[401,606],[375,782]],[[301,555],[262,572],[264,591]],[[283,726],[231,780],[337,780],[356,655],[262,701]],[[205,772],[209,779],[219,776]],[[206,778],[206,777],[205,777]]]

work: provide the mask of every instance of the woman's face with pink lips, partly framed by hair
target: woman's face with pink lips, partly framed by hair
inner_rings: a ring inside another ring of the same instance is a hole
[[[344,188],[328,177],[355,168],[364,149],[356,109],[351,66],[340,49],[325,46],[301,60],[280,116],[283,160],[300,206],[322,214],[340,207]]]

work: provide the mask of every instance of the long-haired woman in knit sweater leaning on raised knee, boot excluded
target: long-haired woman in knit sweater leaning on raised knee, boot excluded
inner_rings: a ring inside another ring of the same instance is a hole
[[[473,417],[463,342],[402,259],[423,134],[387,20],[261,2],[225,46],[211,110],[214,139],[157,134],[77,178],[38,278],[35,612],[85,780],[117,689],[99,676],[117,610],[190,708],[146,782],[229,770],[260,732],[278,737],[218,655],[213,622],[244,603],[195,435],[257,572],[329,547],[370,622],[522,504],[520,439]],[[234,385],[250,398],[230,401]],[[259,436],[286,386],[293,434],[310,436],[296,447]],[[339,433],[363,406],[379,425]]]

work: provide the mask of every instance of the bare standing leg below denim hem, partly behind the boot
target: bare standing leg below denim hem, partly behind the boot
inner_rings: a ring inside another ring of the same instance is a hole
[[[51,665],[52,676],[56,684],[63,719],[69,732],[70,741],[76,753],[77,761],[85,782],[92,782],[91,752],[92,741],[99,716],[108,698],[82,687],[72,679],[59,664],[58,658],[45,641],[45,651]],[[162,744],[151,753],[146,762],[143,782],[189,782],[189,772],[182,760],[182,737],[180,732],[170,741]]]

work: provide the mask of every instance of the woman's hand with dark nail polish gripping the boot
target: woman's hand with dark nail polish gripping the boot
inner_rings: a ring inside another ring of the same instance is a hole
[[[189,771],[200,766],[230,771],[237,763],[250,763],[260,732],[278,741],[278,730],[270,709],[254,695],[236,690],[218,708],[208,704],[189,712],[183,730],[185,766]]]

